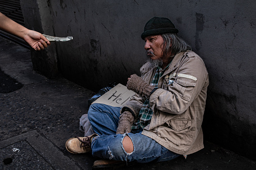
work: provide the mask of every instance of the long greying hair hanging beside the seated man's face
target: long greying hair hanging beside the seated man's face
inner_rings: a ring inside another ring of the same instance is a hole
[[[166,33],[161,36],[163,38],[163,58],[174,57],[180,52],[192,50],[192,48],[184,40],[178,37],[177,34]]]

